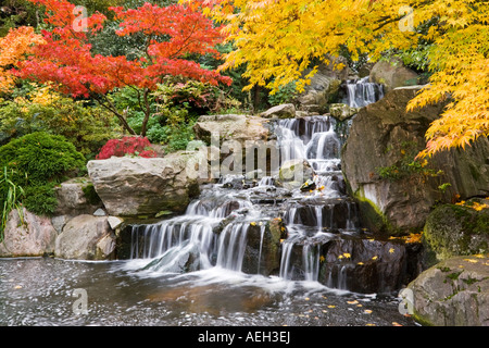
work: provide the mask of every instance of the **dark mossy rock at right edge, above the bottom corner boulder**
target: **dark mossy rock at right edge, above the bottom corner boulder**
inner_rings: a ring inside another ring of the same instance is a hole
[[[435,257],[434,262],[489,252],[489,207],[474,209],[485,203],[489,206],[488,200],[443,204],[429,214],[424,228],[424,245],[428,254]]]

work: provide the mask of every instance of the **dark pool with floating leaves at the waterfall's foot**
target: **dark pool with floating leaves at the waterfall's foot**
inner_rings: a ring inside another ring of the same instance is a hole
[[[0,325],[415,325],[394,297],[221,269],[185,276],[139,271],[147,262],[0,260]],[[76,289],[86,291],[86,314],[76,312]]]

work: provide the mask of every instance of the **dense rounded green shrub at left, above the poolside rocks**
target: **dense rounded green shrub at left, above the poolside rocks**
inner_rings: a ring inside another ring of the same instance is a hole
[[[24,189],[22,203],[33,213],[49,215],[57,208],[54,185],[85,170],[85,157],[63,136],[28,134],[0,147],[0,167],[13,185]],[[0,182],[0,191],[8,190]],[[2,195],[1,207],[5,196]]]

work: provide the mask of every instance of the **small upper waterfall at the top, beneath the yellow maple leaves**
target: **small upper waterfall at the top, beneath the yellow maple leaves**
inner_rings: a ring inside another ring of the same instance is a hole
[[[369,76],[347,83],[348,104],[363,108],[384,98],[384,86],[369,82]]]

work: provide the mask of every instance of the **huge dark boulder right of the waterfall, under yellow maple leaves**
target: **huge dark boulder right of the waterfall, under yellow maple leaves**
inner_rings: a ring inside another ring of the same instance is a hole
[[[488,194],[489,140],[413,163],[426,147],[425,133],[443,104],[406,112],[418,87],[398,88],[362,108],[341,154],[341,170],[360,204],[364,224],[377,233],[423,229],[436,202]]]

